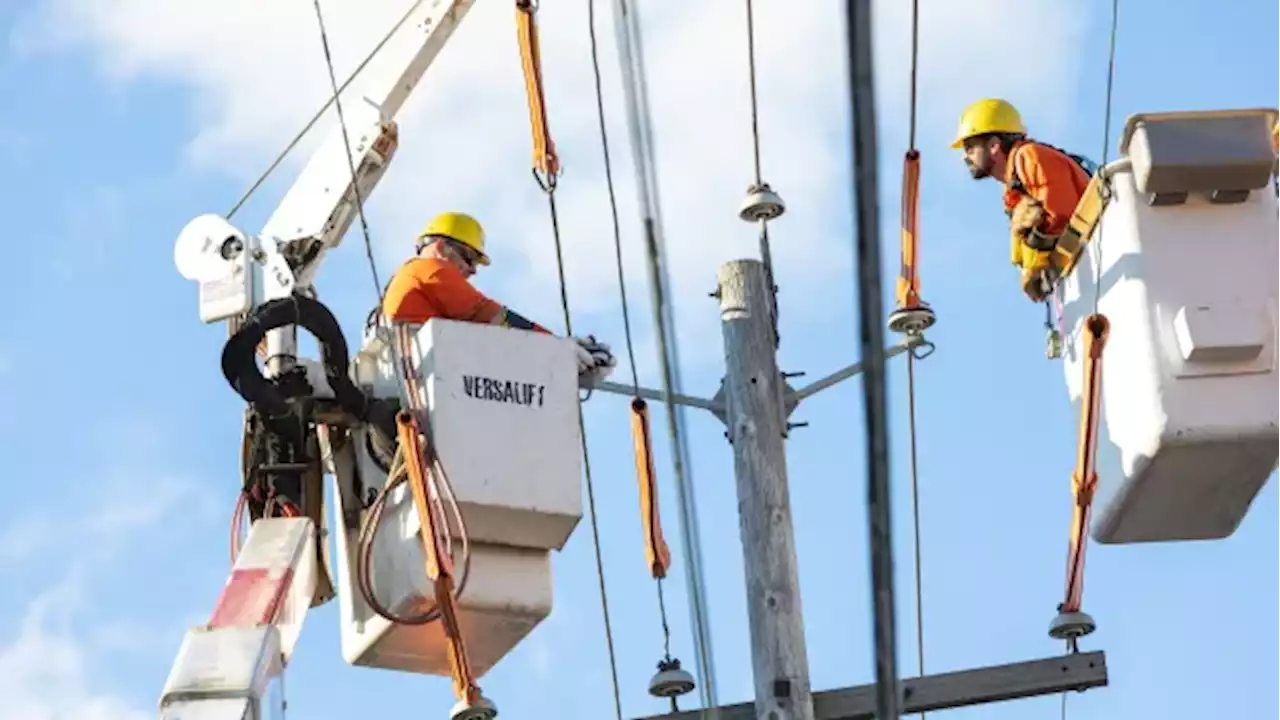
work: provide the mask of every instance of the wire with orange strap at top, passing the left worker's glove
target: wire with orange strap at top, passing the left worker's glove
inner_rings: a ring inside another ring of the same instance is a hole
[[[538,181],[539,187],[547,195],[547,209],[550,215],[552,237],[556,242],[556,272],[559,281],[561,311],[564,316],[564,334],[567,337],[573,337],[573,316],[568,302],[568,282],[564,277],[564,247],[561,241],[559,213],[556,209],[556,187],[559,161],[556,158],[556,146],[550,140],[550,131],[547,124],[541,67],[538,56],[538,31],[534,20],[536,5],[529,0],[517,0],[516,13],[521,60],[525,70],[525,87],[529,94],[530,118],[532,120],[534,179]],[[586,503],[588,511],[591,516],[591,544],[595,550],[595,578],[600,593],[600,612],[604,615],[604,642],[609,652],[609,675],[613,683],[613,712],[617,720],[622,720],[622,688],[618,682],[618,661],[613,644],[613,624],[609,619],[609,596],[604,582],[604,555],[600,551],[600,524],[595,507],[595,483],[591,478],[591,455],[588,451],[586,423],[582,419],[581,405],[579,405],[577,428],[579,434],[582,438],[582,473],[586,478]]]

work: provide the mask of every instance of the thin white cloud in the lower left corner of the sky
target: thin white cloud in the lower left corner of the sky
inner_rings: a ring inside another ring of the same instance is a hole
[[[127,419],[120,424],[138,425]],[[115,451],[128,455],[122,445]],[[166,519],[189,521],[192,511],[198,516],[206,503],[192,482],[152,478],[155,473],[125,475],[133,484],[109,474],[96,483],[97,493],[81,498],[83,507],[64,503],[56,512],[26,511],[0,532],[0,560],[38,560],[42,569],[54,569],[47,575],[52,584],[29,598],[14,598],[26,600],[26,607],[12,623],[0,623],[0,720],[155,716],[113,692],[106,670],[129,655],[172,652],[172,628],[118,616],[102,606],[97,591],[122,551],[136,548]],[[137,491],[140,478],[146,478],[146,492]],[[4,570],[15,574],[14,568]]]

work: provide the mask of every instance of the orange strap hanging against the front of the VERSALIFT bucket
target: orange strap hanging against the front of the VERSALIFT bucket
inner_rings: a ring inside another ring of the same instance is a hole
[[[426,559],[426,578],[435,591],[435,603],[440,609],[440,623],[449,652],[449,667],[453,675],[453,692],[467,702],[475,702],[480,694],[471,662],[467,659],[466,643],[458,625],[458,609],[453,597],[453,562],[444,547],[444,523],[440,509],[439,491],[424,465],[422,436],[412,413],[402,411],[396,416],[396,429],[399,446],[408,470],[408,486],[413,493],[413,506],[422,525],[422,553]]]

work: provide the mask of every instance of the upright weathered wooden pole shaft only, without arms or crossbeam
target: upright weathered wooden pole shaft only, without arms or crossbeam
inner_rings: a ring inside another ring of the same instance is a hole
[[[772,293],[759,260],[727,263],[718,279],[724,423],[737,479],[755,716],[814,720],[787,491],[787,411],[773,342]]]

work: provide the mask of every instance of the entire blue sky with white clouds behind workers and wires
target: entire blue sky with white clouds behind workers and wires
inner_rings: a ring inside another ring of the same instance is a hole
[[[339,74],[407,0],[330,14]],[[172,261],[192,217],[223,211],[324,100],[311,4],[251,0],[20,0],[0,6],[5,45],[0,168],[9,208],[10,307],[0,329],[0,429],[12,493],[0,510],[0,720],[154,716],[187,625],[225,579],[238,483],[239,398],[218,369],[224,333],[196,314]],[[479,4],[402,123],[402,149],[370,202],[388,273],[431,214],[486,223],[492,295],[558,327],[543,200],[529,178],[527,113],[509,5]],[[552,131],[567,167],[561,206],[575,323],[622,350],[608,205],[591,95],[585,3],[541,13]],[[785,370],[814,379],[858,359],[851,284],[841,5],[759,1],[765,179],[790,210],[773,227]],[[790,5],[790,6],[787,6]],[[906,143],[905,8],[877,3],[886,272],[896,265]],[[1108,5],[1097,0],[923,0],[920,147],[924,296],[936,355],[919,368],[928,671],[1051,656],[1061,596],[1075,423],[1060,368],[1042,355],[1039,307],[1007,265],[998,188],[970,182],[946,142],[972,99],[1000,95],[1033,135],[1098,159]],[[786,6],[786,8],[785,8]],[[979,10],[980,9],[980,10]],[[659,182],[686,391],[719,377],[717,264],[755,252],[736,219],[750,182],[741,4],[645,9]],[[631,164],[608,12],[602,53],[637,319],[654,372]],[[1274,105],[1280,6],[1124,5],[1112,128],[1142,110]],[[1029,31],[1024,28],[1030,28]],[[1029,32],[1033,40],[1023,35]],[[1115,133],[1112,133],[1114,136]],[[238,215],[255,229],[310,146]],[[358,231],[320,275],[348,337],[374,302]],[[621,366],[617,378],[625,378]],[[892,364],[900,667],[915,667],[902,361]],[[626,401],[586,409],[602,543],[628,716],[663,711],[645,685],[662,642],[630,459]],[[788,473],[809,661],[817,689],[869,682],[860,388],[806,401]],[[655,409],[655,427],[662,427]],[[731,455],[713,418],[689,414],[722,702],[749,697],[750,661]],[[659,442],[663,510],[678,560],[675,491]],[[1073,717],[1199,719],[1265,708],[1280,661],[1268,570],[1280,511],[1265,491],[1231,538],[1096,546],[1087,648],[1111,687],[1073,697]],[[556,610],[484,679],[507,717],[612,715],[590,532],[554,560]],[[682,569],[667,583],[675,651],[692,665]],[[343,664],[337,603],[312,612],[288,673],[294,717],[402,717],[452,703],[448,680]],[[431,710],[438,708],[438,710]],[[951,717],[1057,717],[1059,698]]]

